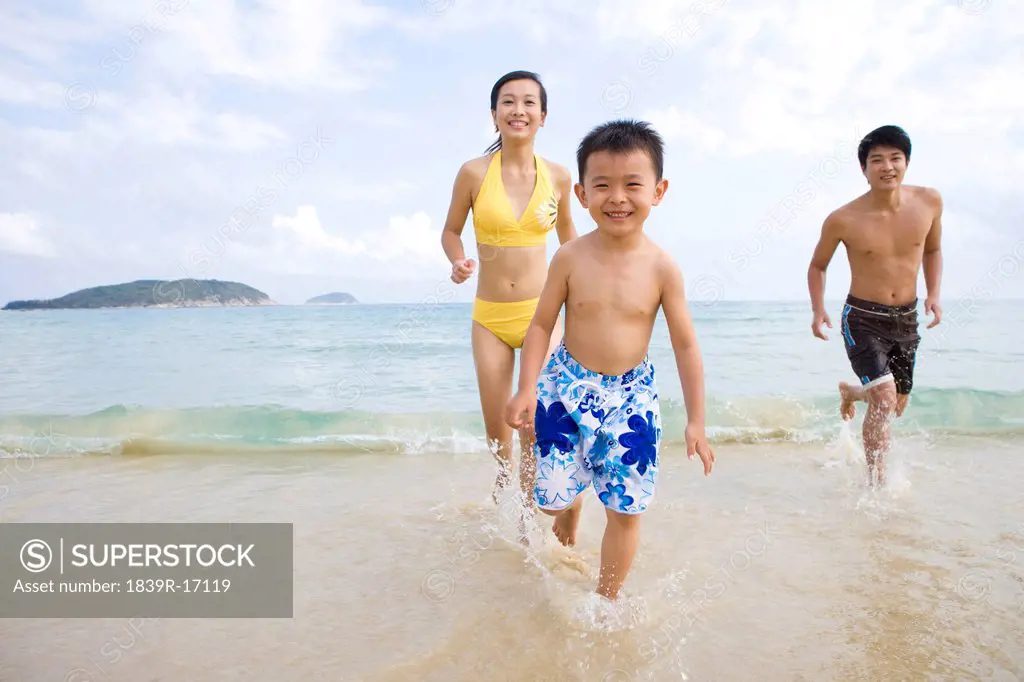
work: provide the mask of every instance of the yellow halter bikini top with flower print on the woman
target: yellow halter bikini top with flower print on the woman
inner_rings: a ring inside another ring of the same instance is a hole
[[[558,196],[551,171],[534,155],[537,182],[526,210],[517,220],[502,182],[502,153],[490,159],[480,190],[473,202],[473,227],[479,244],[503,247],[544,246],[558,218]]]

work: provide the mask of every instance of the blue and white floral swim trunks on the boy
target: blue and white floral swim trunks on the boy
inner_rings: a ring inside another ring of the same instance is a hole
[[[606,508],[623,514],[646,511],[662,445],[650,360],[607,376],[584,368],[562,343],[541,372],[537,398],[538,506],[564,509],[593,484]]]

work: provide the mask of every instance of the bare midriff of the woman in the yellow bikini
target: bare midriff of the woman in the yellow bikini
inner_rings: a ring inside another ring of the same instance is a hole
[[[479,274],[476,297],[483,301],[510,303],[537,298],[548,276],[548,250],[537,247],[476,245]]]

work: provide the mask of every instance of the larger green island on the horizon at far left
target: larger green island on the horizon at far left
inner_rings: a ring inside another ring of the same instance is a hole
[[[136,280],[91,287],[60,298],[11,301],[3,310],[68,308],[186,308],[275,305],[270,297],[238,282],[219,280]]]

